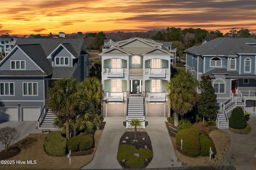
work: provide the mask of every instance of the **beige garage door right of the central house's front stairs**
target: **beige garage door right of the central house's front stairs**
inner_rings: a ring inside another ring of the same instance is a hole
[[[150,103],[146,105],[147,117],[164,117],[164,103]]]

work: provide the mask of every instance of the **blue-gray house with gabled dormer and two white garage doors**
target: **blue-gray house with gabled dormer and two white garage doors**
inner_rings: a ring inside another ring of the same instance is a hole
[[[52,81],[88,76],[83,39],[21,38],[0,62],[0,121],[38,121]]]

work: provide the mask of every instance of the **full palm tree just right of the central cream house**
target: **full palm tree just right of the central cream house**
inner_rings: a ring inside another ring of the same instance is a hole
[[[178,116],[191,111],[199,100],[198,93],[195,91],[195,86],[198,81],[194,79],[190,73],[180,71],[174,75],[166,87],[168,90],[168,101],[174,111],[174,126],[179,125]]]

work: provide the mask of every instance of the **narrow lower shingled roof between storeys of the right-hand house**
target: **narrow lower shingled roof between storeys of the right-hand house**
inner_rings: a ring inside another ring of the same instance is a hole
[[[203,75],[209,75],[211,78],[215,78],[214,75],[216,74],[222,74],[225,75],[225,77],[230,77],[230,78],[236,78],[236,77],[256,77],[256,75],[240,75],[238,73],[238,71],[228,71],[227,69],[224,68],[215,68],[212,69],[206,73],[204,73]]]

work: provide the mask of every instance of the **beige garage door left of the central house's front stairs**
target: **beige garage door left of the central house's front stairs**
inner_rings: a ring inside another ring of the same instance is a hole
[[[107,117],[124,117],[126,107],[124,103],[108,103],[107,104]]]

